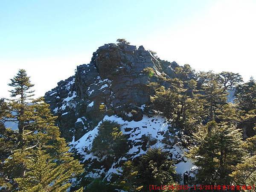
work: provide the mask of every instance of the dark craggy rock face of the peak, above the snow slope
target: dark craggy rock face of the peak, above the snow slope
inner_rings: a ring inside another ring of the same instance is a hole
[[[154,76],[143,70],[150,67]],[[162,61],[140,46],[105,44],[93,53],[90,64],[77,67],[75,76],[58,82],[45,94],[52,112],[58,116],[62,136],[78,140],[93,129],[107,113],[125,120],[140,121],[140,106],[149,101],[149,82],[159,77],[175,77],[174,61]],[[100,105],[105,112],[99,110]]]

